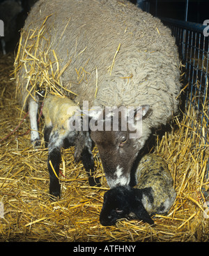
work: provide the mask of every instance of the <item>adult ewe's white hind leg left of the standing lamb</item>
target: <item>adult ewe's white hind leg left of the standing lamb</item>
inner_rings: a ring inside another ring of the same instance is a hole
[[[29,100],[29,117],[31,122],[31,143],[34,143],[34,145],[38,145],[40,141],[40,137],[38,134],[37,114],[38,102],[34,101],[31,98]]]

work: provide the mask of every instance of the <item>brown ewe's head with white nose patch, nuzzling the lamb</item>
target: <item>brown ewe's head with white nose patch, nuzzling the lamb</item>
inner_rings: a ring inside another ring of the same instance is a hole
[[[134,160],[150,134],[142,120],[148,109],[144,105],[90,111],[91,138],[98,146],[109,187],[129,185]]]

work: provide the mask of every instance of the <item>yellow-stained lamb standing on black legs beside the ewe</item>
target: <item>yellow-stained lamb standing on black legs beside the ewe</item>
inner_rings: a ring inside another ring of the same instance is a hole
[[[79,117],[79,106],[68,98],[59,98],[49,95],[44,100],[42,113],[45,116],[45,143],[49,149],[49,194],[60,197],[61,186],[59,184],[59,164],[61,162],[61,147],[68,148],[75,145],[75,159],[82,158],[84,168],[88,173],[90,185],[96,185],[93,178],[94,162],[92,155],[92,141],[88,131],[82,130],[82,119]],[[73,129],[73,123],[79,123],[79,129]],[[54,170],[53,170],[54,169]],[[55,173],[56,175],[55,175]]]

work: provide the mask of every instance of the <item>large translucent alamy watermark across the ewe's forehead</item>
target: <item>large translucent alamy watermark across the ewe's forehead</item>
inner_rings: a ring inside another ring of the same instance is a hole
[[[70,131],[128,131],[130,138],[140,138],[142,134],[142,118],[149,106],[93,106],[88,108],[88,101],[83,101],[82,111],[79,106],[70,106],[68,122]]]

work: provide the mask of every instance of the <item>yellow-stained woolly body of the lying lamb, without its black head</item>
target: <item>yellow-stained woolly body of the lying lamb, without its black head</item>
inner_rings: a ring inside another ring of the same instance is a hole
[[[152,187],[153,204],[142,199],[148,213],[165,213],[176,199],[173,189],[173,178],[162,157],[155,154],[147,154],[141,158],[135,173],[138,189]]]

